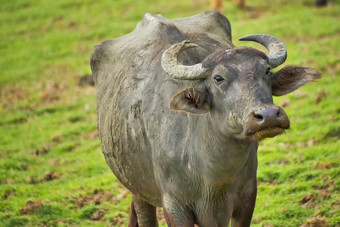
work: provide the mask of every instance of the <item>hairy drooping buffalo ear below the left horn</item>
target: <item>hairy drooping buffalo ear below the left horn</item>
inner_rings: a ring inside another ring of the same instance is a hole
[[[177,113],[204,114],[210,110],[208,91],[185,88],[171,98],[169,107]]]

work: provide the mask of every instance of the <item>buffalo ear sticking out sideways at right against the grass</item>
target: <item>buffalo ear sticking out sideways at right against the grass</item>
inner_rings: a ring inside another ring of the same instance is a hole
[[[321,73],[313,68],[286,66],[274,73],[272,93],[275,96],[288,94],[305,83],[321,78]]]

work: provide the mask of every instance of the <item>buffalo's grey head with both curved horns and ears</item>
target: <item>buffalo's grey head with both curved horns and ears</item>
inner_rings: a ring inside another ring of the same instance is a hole
[[[265,46],[268,55],[251,47],[234,47],[214,52],[195,65],[178,63],[185,49],[197,47],[189,41],[172,45],[162,55],[167,75],[180,80],[197,80],[197,86],[179,91],[170,100],[175,112],[207,114],[221,135],[261,140],[289,128],[285,111],[273,104],[272,96],[288,94],[320,78],[318,71],[301,66],[273,68],[287,57],[283,42],[269,35],[250,35],[240,40]]]

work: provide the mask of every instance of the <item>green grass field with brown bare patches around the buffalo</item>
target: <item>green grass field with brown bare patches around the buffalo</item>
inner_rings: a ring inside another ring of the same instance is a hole
[[[324,75],[275,99],[291,130],[261,143],[252,226],[340,226],[340,1],[313,3],[224,4],[236,45],[274,35],[286,65]],[[1,1],[0,226],[127,225],[131,196],[101,154],[95,88],[79,79],[91,74],[93,47],[132,31],[144,12],[209,9],[208,0]]]

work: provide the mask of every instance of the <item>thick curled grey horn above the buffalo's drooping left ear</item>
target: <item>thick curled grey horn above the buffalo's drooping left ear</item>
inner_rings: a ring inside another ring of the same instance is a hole
[[[161,64],[164,71],[172,78],[179,80],[197,80],[206,78],[206,69],[202,64],[196,65],[180,65],[177,57],[185,49],[197,47],[196,44],[188,40],[181,43],[173,44],[169,49],[162,54]]]

